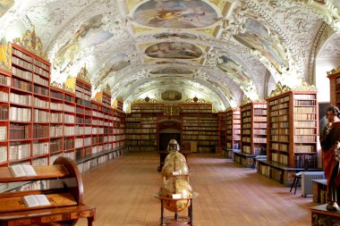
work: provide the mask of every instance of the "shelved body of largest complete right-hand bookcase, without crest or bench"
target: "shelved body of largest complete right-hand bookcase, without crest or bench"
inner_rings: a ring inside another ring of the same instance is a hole
[[[267,99],[268,160],[288,167],[317,168],[316,91],[289,91]]]

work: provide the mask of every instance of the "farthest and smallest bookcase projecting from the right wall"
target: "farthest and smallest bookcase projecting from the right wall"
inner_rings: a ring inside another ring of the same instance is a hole
[[[240,109],[226,111],[226,148],[241,149],[241,112]]]

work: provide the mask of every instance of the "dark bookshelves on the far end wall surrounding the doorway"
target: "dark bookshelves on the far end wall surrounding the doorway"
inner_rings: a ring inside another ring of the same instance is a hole
[[[211,104],[135,103],[126,117],[126,146],[131,151],[157,151],[157,119],[182,118],[181,145],[197,143],[199,152],[218,146],[218,115]]]

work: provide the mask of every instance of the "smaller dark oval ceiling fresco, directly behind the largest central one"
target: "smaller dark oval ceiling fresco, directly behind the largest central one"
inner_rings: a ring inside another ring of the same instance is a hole
[[[149,46],[145,54],[153,58],[196,59],[202,55],[198,46],[185,42],[161,42]]]

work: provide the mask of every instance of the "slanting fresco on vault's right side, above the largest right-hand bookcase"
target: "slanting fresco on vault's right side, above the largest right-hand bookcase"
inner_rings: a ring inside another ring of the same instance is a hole
[[[245,32],[235,35],[234,38],[242,45],[253,50],[259,50],[274,65],[276,71],[282,73],[282,68],[288,68],[285,49],[270,37],[265,25],[251,18],[244,24]],[[281,42],[282,43],[282,42]]]

